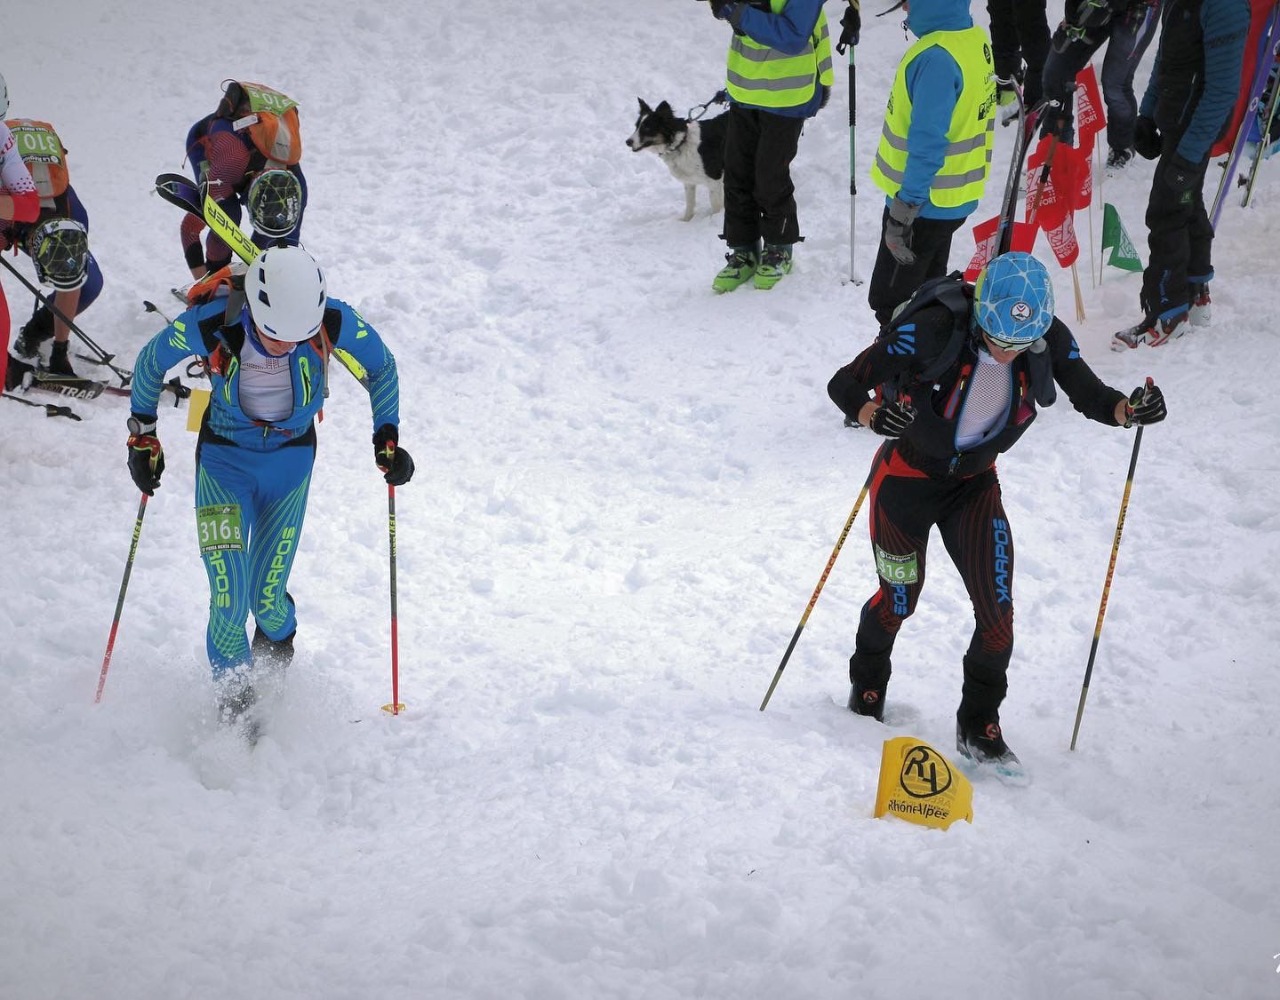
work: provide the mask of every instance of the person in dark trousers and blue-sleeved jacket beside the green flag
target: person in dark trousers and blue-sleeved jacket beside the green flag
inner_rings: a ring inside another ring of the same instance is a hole
[[[1134,146],[1158,159],[1147,201],[1151,260],[1142,321],[1111,338],[1115,351],[1161,347],[1208,323],[1213,227],[1204,209],[1210,149],[1228,127],[1240,86],[1248,0],[1167,0],[1134,128]]]

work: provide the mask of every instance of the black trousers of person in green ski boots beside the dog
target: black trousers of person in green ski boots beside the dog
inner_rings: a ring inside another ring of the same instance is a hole
[[[803,118],[733,105],[724,138],[724,232],[731,247],[800,242],[791,161]]]

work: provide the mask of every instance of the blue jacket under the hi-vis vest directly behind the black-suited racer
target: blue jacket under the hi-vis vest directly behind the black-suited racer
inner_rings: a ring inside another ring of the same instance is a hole
[[[908,29],[918,38],[934,31],[964,31],[973,27],[969,0],[911,0],[906,15]],[[906,67],[906,91],[911,95],[911,127],[906,133],[906,170],[897,196],[911,205],[920,205],[925,219],[965,219],[978,207],[966,201],[943,209],[929,201],[929,186],[946,159],[947,129],[955,111],[964,76],[951,54],[934,45],[915,56]],[[886,198],[886,204],[892,198]]]

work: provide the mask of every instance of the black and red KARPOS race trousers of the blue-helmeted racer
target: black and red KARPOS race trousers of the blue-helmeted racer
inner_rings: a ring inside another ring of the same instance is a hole
[[[1014,652],[1014,536],[995,467],[968,479],[932,479],[891,452],[869,496],[879,589],[863,606],[850,680],[861,688],[888,684],[893,641],[920,599],[929,530],[937,526],[974,616],[957,717],[966,729],[998,722]]]

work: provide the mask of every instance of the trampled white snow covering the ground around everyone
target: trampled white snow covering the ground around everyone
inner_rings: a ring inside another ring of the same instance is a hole
[[[721,86],[727,28],[701,6],[284,0],[232,31],[234,56],[180,61],[174,15],[204,8],[19,8],[10,37],[60,26],[3,69],[12,113],[70,150],[106,275],[84,329],[131,364],[157,329],[142,300],[172,309],[184,274],[152,177],[182,169],[220,79],[279,86],[302,105],[307,246],[397,353],[417,476],[397,492],[393,718],[385,490],[335,376],[300,652],[250,754],[212,722],[186,408],[160,414],[168,470],[100,706],[137,513],[128,403],[73,403],[74,426],[0,410],[0,997],[1280,995],[1274,169],[1225,211],[1213,327],[1160,352],[1107,350],[1139,279],[1097,286],[1088,251],[1106,198],[1146,256],[1151,164],[1076,218],[1088,319],[1053,268],[1059,314],[1107,382],[1155,375],[1170,419],[1144,431],[1074,753],[1133,437],[1062,399],[1001,462],[1002,716],[1033,784],[978,778],[973,825],[938,832],[872,818],[884,739],[951,750],[972,613],[937,539],[884,726],[844,709],[865,511],[758,711],[876,446],[824,391],[874,333],[846,282],[838,58],[795,165],[795,273],[714,297],[705,192],[680,223],[678,183],[622,145],[637,96],[682,110]],[[864,278],[904,49],[900,18],[867,18]]]

